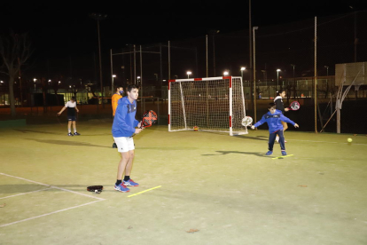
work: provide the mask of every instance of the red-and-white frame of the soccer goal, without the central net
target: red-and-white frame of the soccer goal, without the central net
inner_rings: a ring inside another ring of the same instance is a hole
[[[246,103],[245,103],[245,96],[244,96],[244,87],[243,87],[243,81],[242,81],[242,77],[240,76],[217,76],[217,77],[203,77],[203,78],[188,78],[188,79],[173,79],[173,80],[168,80],[168,131],[179,131],[179,130],[193,130],[193,128],[191,128],[190,126],[187,125],[186,123],[186,112],[185,112],[185,106],[184,106],[184,95],[183,95],[183,89],[182,89],[182,84],[183,83],[188,83],[188,82],[199,82],[199,81],[217,81],[217,80],[229,80],[229,90],[228,90],[228,100],[229,100],[229,115],[228,115],[228,130],[226,130],[225,127],[223,127],[223,130],[202,130],[202,131],[215,131],[215,132],[229,132],[230,136],[234,136],[234,135],[241,135],[241,134],[247,134],[247,128],[246,127],[241,127],[242,130],[234,130],[233,129],[233,88],[232,88],[232,84],[233,84],[233,80],[236,79],[236,81],[240,82],[240,94],[241,94],[241,104],[242,104],[242,108],[243,108],[243,112],[241,109],[241,113],[243,113],[243,116],[241,116],[240,119],[242,119],[243,117],[246,116]],[[181,94],[181,102],[182,102],[182,109],[183,109],[183,121],[184,121],[184,127],[183,129],[179,129],[179,130],[172,130],[171,127],[171,120],[172,120],[172,111],[171,111],[171,83],[180,83],[180,94]],[[238,82],[236,82],[238,83]],[[239,120],[240,120],[239,119]],[[238,122],[239,123],[239,122]],[[238,124],[237,123],[237,124]]]

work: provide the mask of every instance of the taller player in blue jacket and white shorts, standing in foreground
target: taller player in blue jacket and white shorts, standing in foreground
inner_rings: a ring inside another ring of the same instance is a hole
[[[143,130],[140,129],[141,122],[135,119],[135,115],[137,114],[137,86],[134,84],[129,85],[127,94],[127,96],[118,101],[112,127],[113,139],[117,145],[118,152],[121,154],[114,189],[122,193],[129,192],[127,186],[139,186],[139,184],[130,178],[135,150],[132,136],[134,133],[138,134]],[[122,179],[124,172],[125,177]]]

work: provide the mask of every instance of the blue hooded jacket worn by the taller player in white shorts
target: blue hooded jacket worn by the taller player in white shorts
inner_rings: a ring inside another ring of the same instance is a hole
[[[135,119],[137,114],[137,101],[130,103],[127,96],[118,100],[116,113],[113,119],[113,137],[131,137],[139,121]]]

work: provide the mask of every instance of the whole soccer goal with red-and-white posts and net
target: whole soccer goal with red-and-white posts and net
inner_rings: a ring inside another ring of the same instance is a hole
[[[221,76],[168,81],[168,131],[193,130],[246,134],[242,78]]]

